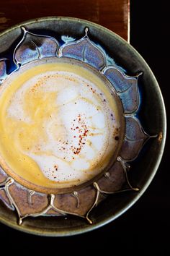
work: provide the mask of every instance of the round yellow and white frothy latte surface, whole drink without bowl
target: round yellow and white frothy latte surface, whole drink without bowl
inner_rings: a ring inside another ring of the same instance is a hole
[[[0,108],[1,166],[40,192],[69,191],[102,175],[124,135],[115,90],[73,59],[24,65],[4,82]]]

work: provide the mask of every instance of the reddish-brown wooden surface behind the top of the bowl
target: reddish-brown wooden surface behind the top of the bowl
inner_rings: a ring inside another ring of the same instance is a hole
[[[129,40],[130,0],[6,0],[0,4],[0,32],[38,17],[78,17]]]

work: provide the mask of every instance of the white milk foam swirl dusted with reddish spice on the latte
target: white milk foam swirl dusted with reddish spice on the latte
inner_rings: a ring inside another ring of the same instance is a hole
[[[74,72],[42,72],[25,81],[12,94],[6,119],[19,153],[56,184],[87,182],[117,147],[117,110],[95,82]]]

